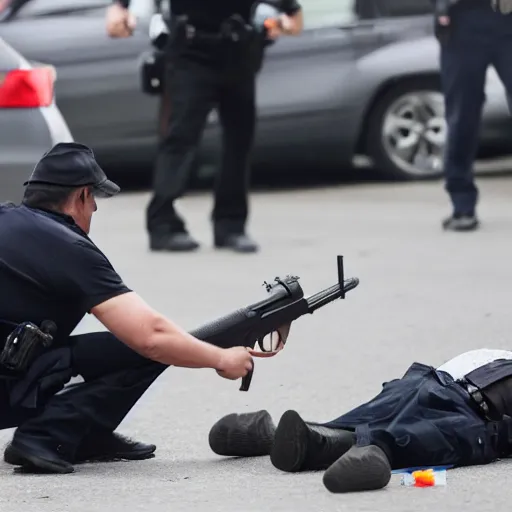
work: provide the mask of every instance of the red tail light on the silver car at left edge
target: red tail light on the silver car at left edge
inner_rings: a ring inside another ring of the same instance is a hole
[[[0,108],[48,107],[53,101],[52,67],[0,72]]]

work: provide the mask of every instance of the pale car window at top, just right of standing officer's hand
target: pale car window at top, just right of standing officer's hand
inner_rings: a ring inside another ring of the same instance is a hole
[[[301,0],[300,3],[306,29],[345,25],[357,17],[355,0]]]

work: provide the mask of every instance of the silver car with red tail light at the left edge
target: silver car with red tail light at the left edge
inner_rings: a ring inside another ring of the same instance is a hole
[[[0,201],[18,202],[43,153],[73,141],[54,101],[55,69],[30,63],[0,38]]]

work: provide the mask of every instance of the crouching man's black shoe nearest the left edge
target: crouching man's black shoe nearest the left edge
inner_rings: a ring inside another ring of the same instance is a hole
[[[4,460],[30,472],[73,473],[72,464],[59,455],[59,448],[54,451],[39,441],[15,437],[5,449]]]

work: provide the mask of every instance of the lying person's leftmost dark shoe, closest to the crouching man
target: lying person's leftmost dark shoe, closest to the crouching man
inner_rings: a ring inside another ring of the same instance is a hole
[[[208,441],[217,455],[260,457],[269,455],[275,425],[267,411],[228,414],[210,430]]]

